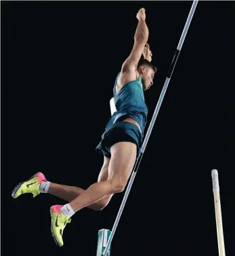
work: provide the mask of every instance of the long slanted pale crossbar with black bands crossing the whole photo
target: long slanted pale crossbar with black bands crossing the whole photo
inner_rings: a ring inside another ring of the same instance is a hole
[[[157,103],[157,105],[156,105],[156,109],[155,109],[155,111],[154,111],[154,115],[153,115],[153,117],[152,117],[152,120],[151,120],[151,122],[150,122],[150,126],[149,126],[149,128],[148,128],[148,132],[146,133],[146,136],[145,136],[144,143],[143,143],[142,149],[141,149],[141,156],[140,156],[139,160],[135,163],[134,171],[132,172],[131,179],[130,179],[129,184],[128,184],[128,186],[127,186],[127,190],[126,190],[126,192],[125,192],[125,196],[124,196],[124,198],[123,198],[123,202],[121,203],[121,206],[120,206],[120,208],[119,208],[119,213],[117,214],[116,219],[115,219],[115,221],[114,221],[114,225],[113,225],[113,227],[112,227],[112,232],[111,232],[111,234],[110,234],[110,237],[109,237],[109,239],[108,239],[108,243],[107,243],[107,245],[106,245],[106,249],[104,250],[104,253],[102,254],[102,256],[106,256],[106,255],[107,255],[107,253],[108,253],[108,247],[110,246],[110,244],[111,244],[111,242],[112,242],[112,238],[114,237],[114,233],[115,233],[115,231],[116,231],[116,227],[117,227],[117,225],[119,224],[119,219],[121,218],[121,214],[123,213],[123,208],[124,208],[125,203],[126,203],[126,201],[127,201],[127,197],[128,197],[128,195],[129,195],[129,191],[131,190],[132,183],[133,183],[133,181],[134,181],[134,179],[135,179],[135,175],[136,175],[136,172],[137,172],[137,168],[138,168],[138,166],[140,165],[140,161],[142,160],[142,156],[143,156],[143,154],[144,154],[145,147],[146,147],[146,145],[147,145],[147,142],[148,142],[150,133],[151,133],[151,131],[152,131],[152,127],[153,127],[154,122],[155,122],[155,120],[156,120],[156,116],[157,116],[157,114],[158,114],[158,111],[159,111],[159,109],[160,109],[160,107],[161,107],[161,103],[162,103],[162,101],[163,101],[163,97],[164,97],[165,92],[166,92],[166,90],[167,90],[167,86],[168,86],[168,84],[169,84],[171,75],[172,75],[172,73],[173,73],[173,69],[174,69],[174,67],[175,67],[175,63],[177,62],[177,58],[178,58],[178,56],[179,56],[179,52],[180,52],[180,50],[181,50],[181,46],[182,46],[183,43],[184,43],[184,39],[185,39],[185,37],[186,37],[187,31],[188,31],[188,27],[190,26],[190,22],[191,22],[191,20],[192,20],[192,16],[193,16],[194,11],[195,11],[195,9],[196,9],[197,3],[198,3],[198,0],[197,0],[197,1],[193,1],[193,3],[192,3],[192,7],[191,7],[191,10],[190,10],[190,13],[188,14],[188,19],[187,19],[186,24],[185,24],[185,26],[184,26],[184,31],[183,31],[182,34],[181,34],[181,37],[180,37],[180,40],[179,40],[179,44],[178,44],[177,50],[176,50],[176,52],[175,52],[175,56],[174,56],[174,58],[173,58],[173,61],[172,61],[172,63],[171,63],[171,67],[170,67],[170,69],[169,69],[169,73],[168,73],[168,75],[167,75],[167,79],[166,79],[166,81],[165,81],[165,84],[164,84],[164,86],[163,86],[163,90],[162,90],[162,92],[161,92],[161,95],[160,95],[160,97],[159,97],[158,103]]]

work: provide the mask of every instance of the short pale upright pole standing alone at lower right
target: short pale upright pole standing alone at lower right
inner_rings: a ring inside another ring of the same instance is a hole
[[[216,229],[217,229],[219,256],[226,256],[224,240],[223,240],[223,223],[222,223],[221,203],[220,203],[220,194],[219,194],[219,177],[218,177],[217,170],[215,169],[212,170],[211,176],[213,181],[215,222],[216,222]]]

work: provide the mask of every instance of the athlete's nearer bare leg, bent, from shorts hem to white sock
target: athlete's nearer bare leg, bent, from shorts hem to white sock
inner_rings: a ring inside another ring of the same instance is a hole
[[[69,204],[74,212],[125,189],[135,164],[137,147],[134,143],[119,142],[110,151],[112,156],[108,165],[108,180],[94,183],[72,200]]]

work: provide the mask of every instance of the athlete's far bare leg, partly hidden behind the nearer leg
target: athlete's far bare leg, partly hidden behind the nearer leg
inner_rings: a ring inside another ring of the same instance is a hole
[[[100,170],[100,175],[98,177],[99,181],[106,181],[108,179],[108,165],[110,162],[110,158],[106,158],[104,156],[104,164]],[[54,196],[57,196],[58,198],[62,198],[63,200],[66,200],[68,202],[74,200],[81,194],[83,194],[83,191],[85,189],[82,189],[81,187],[74,187],[74,186],[68,186],[68,185],[60,185],[56,183],[50,183],[48,193]],[[108,204],[110,201],[112,195],[107,196],[106,198],[103,198],[102,200],[95,202],[94,204],[90,204],[87,206],[87,208],[91,208],[95,211],[100,211],[104,206]]]

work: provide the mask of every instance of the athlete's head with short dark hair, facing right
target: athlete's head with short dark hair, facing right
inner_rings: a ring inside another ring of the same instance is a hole
[[[143,90],[148,90],[153,84],[156,67],[148,60],[141,58],[137,65],[137,71],[142,78]]]

